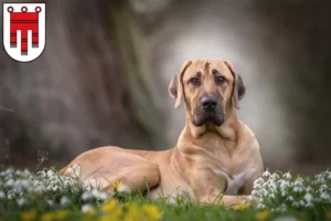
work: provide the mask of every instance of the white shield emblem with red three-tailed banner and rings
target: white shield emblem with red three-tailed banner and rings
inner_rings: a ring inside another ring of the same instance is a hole
[[[39,57],[46,43],[45,3],[3,3],[3,46],[19,62]]]

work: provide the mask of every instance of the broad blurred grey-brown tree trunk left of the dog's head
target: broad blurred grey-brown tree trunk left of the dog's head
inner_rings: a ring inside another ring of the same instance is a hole
[[[166,148],[159,92],[130,6],[61,0],[46,9],[38,60],[18,63],[0,52],[0,105],[14,109],[0,110],[0,145],[10,143],[13,162],[36,159],[38,149],[68,160],[105,145]]]

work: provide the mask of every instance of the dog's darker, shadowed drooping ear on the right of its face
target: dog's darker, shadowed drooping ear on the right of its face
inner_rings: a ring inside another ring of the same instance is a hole
[[[233,77],[234,77],[234,85],[233,85],[233,92],[232,92],[232,102],[235,106],[235,108],[239,109],[239,101],[244,97],[246,92],[245,83],[239,74],[237,74],[233,65],[228,61],[224,61],[225,65],[229,69]]]

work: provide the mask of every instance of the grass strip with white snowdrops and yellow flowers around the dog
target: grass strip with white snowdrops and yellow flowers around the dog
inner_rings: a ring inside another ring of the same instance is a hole
[[[113,183],[115,188],[120,182]],[[314,177],[264,172],[252,197],[225,208],[197,204],[178,196],[151,200],[141,193],[109,194],[84,186],[54,168],[36,173],[9,168],[0,171],[0,220],[331,220],[331,171]]]

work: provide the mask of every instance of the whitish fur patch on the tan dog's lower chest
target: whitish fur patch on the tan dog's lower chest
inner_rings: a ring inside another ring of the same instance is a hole
[[[241,188],[244,187],[246,180],[252,177],[255,172],[253,168],[244,169],[241,172],[237,172],[235,175],[228,176],[223,170],[213,170],[214,173],[221,178],[226,179],[226,190],[225,194],[238,194]]]

